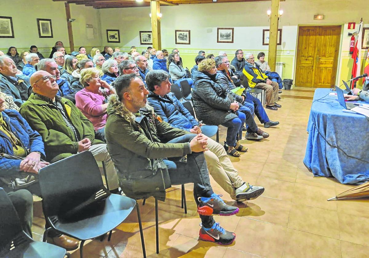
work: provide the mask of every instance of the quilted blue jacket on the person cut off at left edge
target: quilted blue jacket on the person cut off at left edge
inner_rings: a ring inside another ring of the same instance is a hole
[[[39,133],[33,130],[27,121],[19,114],[18,111],[6,109],[1,112],[6,124],[10,130],[14,132],[15,136],[21,141],[22,145],[29,150],[29,152],[41,152],[41,158],[45,158],[44,142]],[[9,137],[0,131],[0,152],[10,155],[14,154],[13,145]],[[8,176],[19,171],[21,160],[13,160],[0,157],[0,176]]]

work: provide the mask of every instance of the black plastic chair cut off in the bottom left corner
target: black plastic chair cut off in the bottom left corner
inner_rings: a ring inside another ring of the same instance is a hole
[[[22,229],[17,211],[0,188],[0,257],[62,258],[69,253],[56,245],[34,241]]]

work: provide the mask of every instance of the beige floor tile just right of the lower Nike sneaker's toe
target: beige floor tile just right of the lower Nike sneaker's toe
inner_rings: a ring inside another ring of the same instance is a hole
[[[241,218],[232,249],[262,257],[282,257],[286,227]]]

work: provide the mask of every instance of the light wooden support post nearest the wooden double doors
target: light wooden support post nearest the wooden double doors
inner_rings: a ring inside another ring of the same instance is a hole
[[[272,13],[270,14],[268,63],[270,66],[270,70],[275,71],[277,60],[279,0],[272,0],[271,11]]]

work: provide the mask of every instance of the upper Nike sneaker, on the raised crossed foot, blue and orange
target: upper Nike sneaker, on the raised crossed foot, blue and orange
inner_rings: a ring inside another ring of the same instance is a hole
[[[223,195],[216,195],[213,193],[210,198],[199,197],[199,206],[197,207],[197,212],[200,215],[211,216],[231,216],[239,212],[239,209],[234,206],[225,204],[225,202],[220,198]]]

